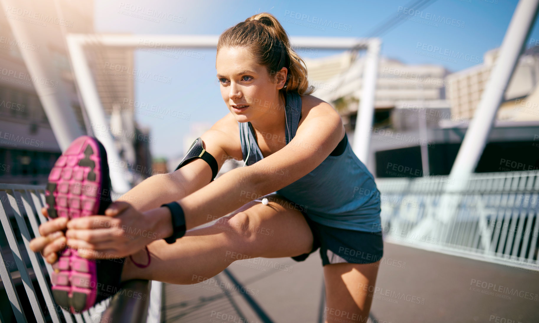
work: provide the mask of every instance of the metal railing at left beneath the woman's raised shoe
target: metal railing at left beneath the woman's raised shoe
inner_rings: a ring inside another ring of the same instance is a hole
[[[122,291],[80,314],[71,314],[54,304],[50,276],[52,266],[29,242],[39,237],[39,224],[47,221],[41,213],[45,206],[45,187],[0,184],[0,278],[9,299],[0,305],[0,321],[37,322],[158,322],[161,317],[162,283],[129,280]],[[30,268],[29,268],[30,267]],[[20,277],[20,278],[19,278]],[[36,281],[37,280],[37,284]],[[132,297],[134,293],[145,297]],[[148,296],[148,297],[146,297]],[[11,311],[9,311],[11,307]]]

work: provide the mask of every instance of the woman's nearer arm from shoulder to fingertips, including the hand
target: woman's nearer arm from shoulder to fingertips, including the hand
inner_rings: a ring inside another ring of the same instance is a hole
[[[186,230],[218,219],[259,196],[292,184],[320,165],[342,139],[344,128],[341,117],[328,103],[320,101],[315,108],[307,111],[296,135],[281,150],[253,165],[226,172],[210,184],[178,199],[185,215]],[[126,238],[129,235],[127,230],[146,228],[151,231],[153,240],[169,237],[173,232],[170,210],[166,207],[142,213],[127,203],[118,203],[106,214],[108,216],[103,216],[100,222],[81,217],[68,223],[71,229],[67,231],[68,237],[78,240],[73,247],[91,249],[86,250],[87,257],[101,258],[107,254],[122,257],[151,242],[149,238],[136,237],[136,241]],[[118,237],[113,243],[100,242],[110,234],[106,230],[98,233],[99,230],[93,229],[108,227],[114,227],[114,235]]]

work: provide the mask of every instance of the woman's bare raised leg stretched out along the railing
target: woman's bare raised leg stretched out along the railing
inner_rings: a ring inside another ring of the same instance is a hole
[[[176,243],[157,240],[148,245],[151,264],[138,268],[128,258],[122,281],[134,278],[171,284],[195,284],[243,258],[293,257],[309,252],[313,235],[293,203],[277,195],[268,205],[250,202],[209,227],[190,230]],[[211,215],[210,215],[211,217]],[[147,262],[146,251],[133,255]]]

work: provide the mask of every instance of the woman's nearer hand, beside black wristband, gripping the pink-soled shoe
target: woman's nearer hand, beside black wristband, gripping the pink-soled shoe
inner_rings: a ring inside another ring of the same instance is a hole
[[[67,222],[67,245],[85,258],[126,257],[161,239],[148,215],[129,203],[116,201],[105,215],[78,217]]]

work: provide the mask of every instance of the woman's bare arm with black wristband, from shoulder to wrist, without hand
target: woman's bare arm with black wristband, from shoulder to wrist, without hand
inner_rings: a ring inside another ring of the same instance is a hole
[[[284,148],[259,162],[231,170],[218,180],[179,199],[187,229],[224,216],[257,199],[281,189],[311,172],[329,156],[343,136],[341,117],[330,104],[319,100],[308,111],[296,135]],[[157,219],[155,230],[172,234],[168,208],[148,211]]]

